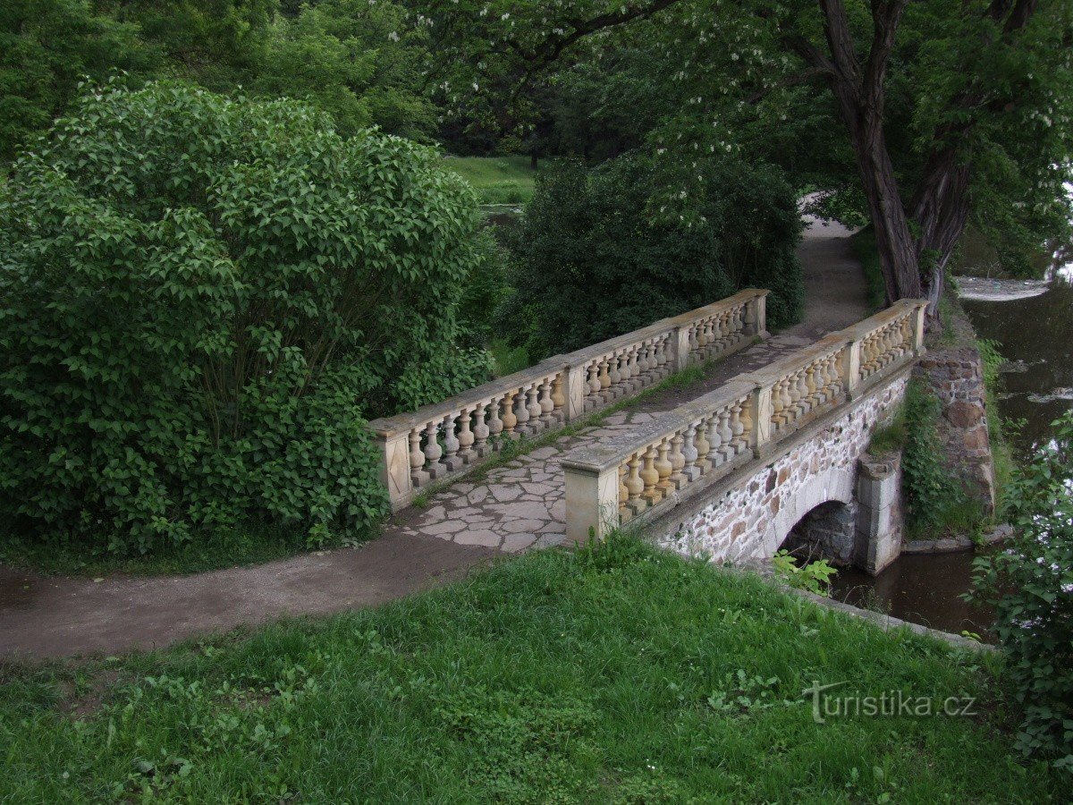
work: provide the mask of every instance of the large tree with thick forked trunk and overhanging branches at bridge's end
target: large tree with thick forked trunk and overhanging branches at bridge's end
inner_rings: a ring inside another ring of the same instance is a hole
[[[994,239],[1021,248],[1069,237],[1073,10],[1062,0],[421,5],[459,38],[470,26],[445,62],[465,56],[523,83],[564,54],[601,54],[618,30],[645,26],[663,47],[667,91],[681,101],[662,127],[676,134],[678,158],[694,159],[682,156],[691,143],[748,149],[735,128],[776,129],[787,106],[773,99],[829,109],[891,299],[927,294],[935,309],[970,214]],[[826,178],[837,187],[848,176]]]

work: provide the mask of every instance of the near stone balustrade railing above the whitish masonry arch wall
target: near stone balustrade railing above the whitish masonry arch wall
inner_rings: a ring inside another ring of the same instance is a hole
[[[927,302],[905,299],[659,420],[562,460],[567,536],[604,536],[711,484],[924,351]],[[671,500],[672,502],[664,503]]]

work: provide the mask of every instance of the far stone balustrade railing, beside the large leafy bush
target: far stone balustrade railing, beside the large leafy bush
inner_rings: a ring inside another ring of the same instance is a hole
[[[741,291],[443,402],[370,422],[393,510],[407,506],[421,487],[476,464],[510,439],[561,427],[691,363],[725,356],[765,338],[767,293]]]

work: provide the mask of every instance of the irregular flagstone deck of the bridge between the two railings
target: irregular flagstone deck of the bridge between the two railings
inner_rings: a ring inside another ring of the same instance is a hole
[[[429,495],[428,506],[399,512],[385,535],[437,537],[460,545],[481,545],[506,553],[546,547],[565,536],[565,488],[560,457],[568,451],[633,429],[718,389],[736,375],[767,366],[811,340],[774,336],[711,367],[688,389],[668,389],[612,413],[599,425],[554,444],[538,448],[487,472],[480,482],[461,478]]]

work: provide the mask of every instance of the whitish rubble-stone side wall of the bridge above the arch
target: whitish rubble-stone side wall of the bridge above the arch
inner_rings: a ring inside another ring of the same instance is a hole
[[[828,500],[852,503],[857,459],[876,425],[905,398],[908,377],[851,404],[839,419],[739,481],[717,500],[684,506],[662,525],[661,547],[712,561],[769,558],[794,525]]]

